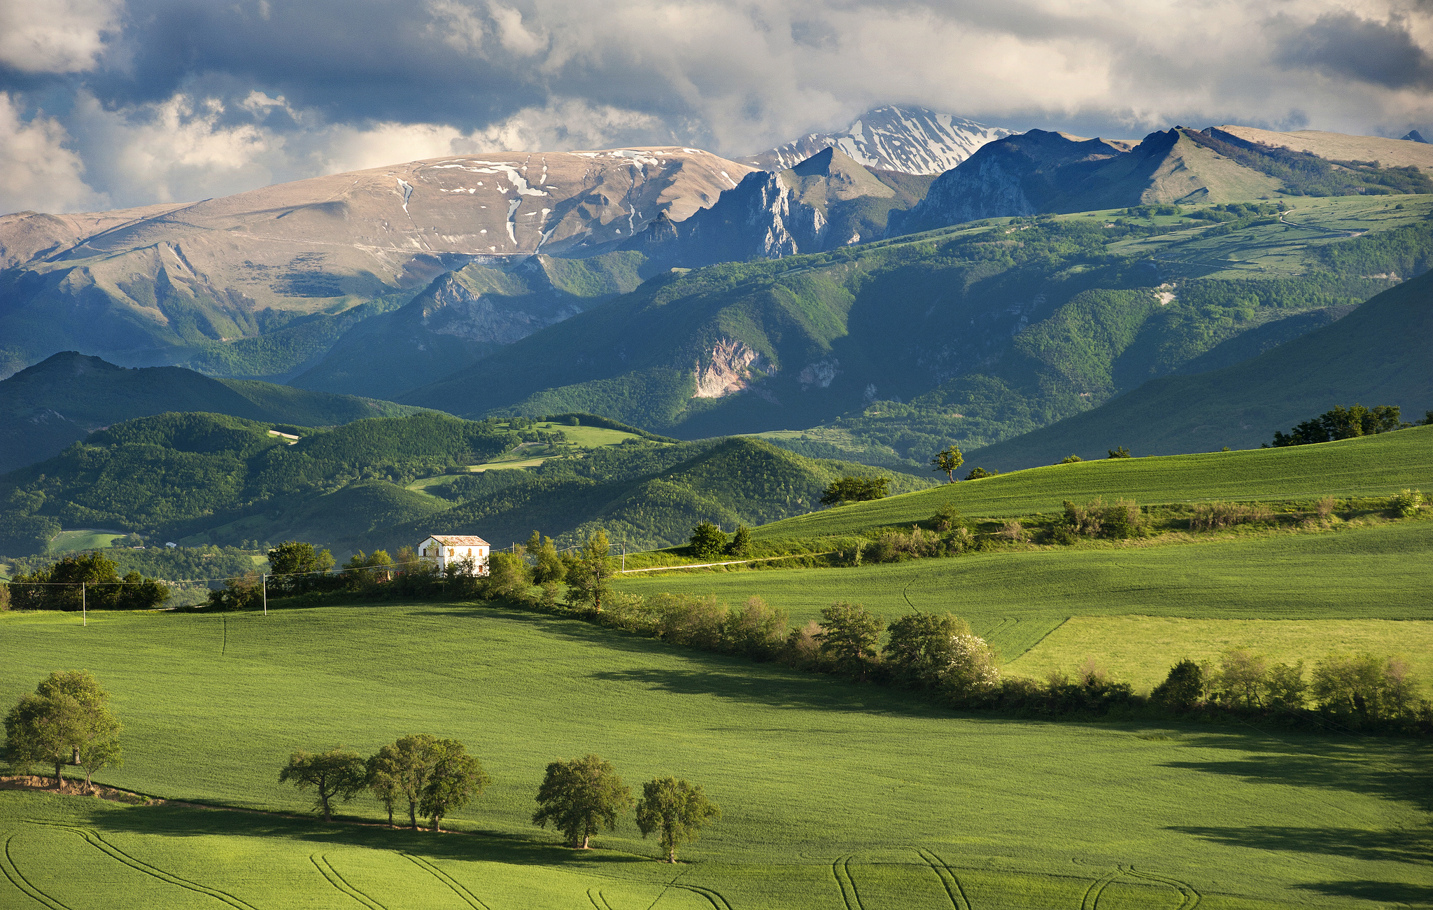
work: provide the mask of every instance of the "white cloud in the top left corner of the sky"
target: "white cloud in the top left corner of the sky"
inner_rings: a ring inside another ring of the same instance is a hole
[[[26,73],[93,69],[123,7],[122,0],[0,3],[0,63]]]

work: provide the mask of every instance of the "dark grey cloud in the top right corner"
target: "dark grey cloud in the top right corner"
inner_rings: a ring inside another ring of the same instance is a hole
[[[1389,89],[1433,86],[1433,59],[1419,47],[1403,21],[1379,23],[1353,13],[1328,13],[1311,26],[1275,26],[1281,63],[1318,70],[1334,79],[1357,79]]]

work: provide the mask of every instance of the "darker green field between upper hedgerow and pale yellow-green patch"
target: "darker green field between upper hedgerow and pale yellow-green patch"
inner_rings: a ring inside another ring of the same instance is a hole
[[[817,619],[834,600],[858,600],[887,618],[916,609],[950,610],[1015,659],[1069,616],[1433,619],[1426,567],[1433,557],[1430,532],[1426,520],[1397,522],[1268,537],[1230,535],[1174,546],[973,553],[854,569],[672,573],[628,578],[620,588],[712,592],[729,603],[759,595],[795,623]]]

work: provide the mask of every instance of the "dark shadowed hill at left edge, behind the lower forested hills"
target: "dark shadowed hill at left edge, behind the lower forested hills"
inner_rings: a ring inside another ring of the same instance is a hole
[[[215,380],[183,367],[116,367],[76,351],[0,381],[0,473],[47,459],[92,430],[165,411],[324,427],[420,408],[254,380]]]

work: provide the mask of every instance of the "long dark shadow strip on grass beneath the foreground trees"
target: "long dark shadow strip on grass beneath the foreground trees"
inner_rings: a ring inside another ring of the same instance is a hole
[[[433,860],[481,860],[513,866],[612,867],[655,863],[653,858],[606,850],[572,850],[550,840],[529,840],[496,831],[413,831],[374,824],[334,824],[318,818],[287,818],[277,814],[208,810],[189,805],[140,805],[90,813],[82,827],[100,834],[145,834],[158,837],[262,837],[288,838],[327,847],[367,847],[411,853]],[[600,838],[599,838],[600,841]]]

